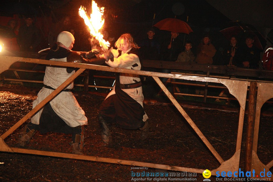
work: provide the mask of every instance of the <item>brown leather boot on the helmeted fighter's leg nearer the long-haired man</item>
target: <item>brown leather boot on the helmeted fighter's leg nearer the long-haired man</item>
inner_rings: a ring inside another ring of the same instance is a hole
[[[72,140],[74,137],[75,139],[72,143],[72,147],[73,147],[72,153],[83,155],[82,150],[84,145],[84,125],[77,126],[73,128],[73,130],[74,131],[72,133]]]

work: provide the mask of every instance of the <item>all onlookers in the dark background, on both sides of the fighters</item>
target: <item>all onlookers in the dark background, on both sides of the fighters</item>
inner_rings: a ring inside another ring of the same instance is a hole
[[[39,47],[41,31],[33,24],[33,16],[29,15],[24,18],[25,24],[21,25],[20,28],[18,28],[15,19],[11,19],[8,22],[7,30],[10,32],[10,35],[6,36],[3,41],[6,48],[10,51],[38,52],[41,49]],[[59,22],[53,23],[47,36],[48,47],[54,45],[57,35],[62,31],[71,32],[76,37],[73,27],[75,26],[72,26],[69,16],[64,16]],[[149,28],[146,38],[136,42],[140,47],[139,57],[141,59],[184,62],[188,64],[214,64],[213,58],[217,50],[211,43],[211,35],[208,32],[204,33],[200,44],[194,48],[194,51],[192,49],[193,43],[189,40],[184,39],[183,41],[180,39],[178,32],[170,32],[170,37],[166,40],[156,39],[154,36],[155,32],[153,27]],[[114,47],[115,35],[107,31],[102,31],[102,34],[104,39],[110,42],[110,47]],[[86,42],[83,42],[83,39],[76,40],[79,40],[79,42],[75,42],[75,45],[82,45],[78,49],[85,49],[82,51],[91,49],[91,44],[89,47],[89,43],[86,44]],[[92,42],[93,40],[90,36],[84,39],[87,42]],[[221,63],[219,65],[273,70],[273,48],[268,47],[264,51],[259,50],[253,45],[254,35],[252,34],[245,34],[244,40],[245,42],[238,46],[238,38],[235,35],[232,36],[229,43],[222,46],[223,49],[220,52]],[[87,46],[84,47],[83,45]],[[76,46],[75,48],[77,49]],[[168,71],[163,70],[163,72]]]

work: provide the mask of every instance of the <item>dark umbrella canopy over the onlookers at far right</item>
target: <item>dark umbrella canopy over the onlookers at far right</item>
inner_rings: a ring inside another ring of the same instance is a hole
[[[258,32],[256,29],[251,28],[248,25],[240,25],[236,23],[237,25],[228,27],[226,29],[220,30],[220,32],[225,36],[227,40],[231,39],[232,35],[237,36],[237,39],[241,39],[242,42],[244,42],[245,35],[253,35],[254,42],[253,45],[257,47],[258,49],[263,50],[266,45],[265,38],[261,35],[260,32]]]

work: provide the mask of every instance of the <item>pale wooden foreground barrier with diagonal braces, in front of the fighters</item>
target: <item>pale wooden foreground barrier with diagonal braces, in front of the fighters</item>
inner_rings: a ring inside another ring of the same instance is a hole
[[[30,111],[26,116],[24,116],[18,123],[12,126],[11,129],[6,131],[4,134],[1,135],[0,140],[0,151],[4,152],[18,152],[18,153],[31,153],[31,154],[38,154],[38,155],[45,155],[45,156],[54,156],[54,157],[65,157],[65,158],[73,158],[73,159],[81,159],[81,160],[90,160],[90,161],[98,161],[98,162],[108,162],[108,163],[118,163],[118,164],[125,164],[125,165],[135,165],[141,167],[152,167],[152,168],[159,168],[159,169],[166,169],[166,170],[177,170],[177,171],[187,171],[187,172],[195,172],[195,173],[202,173],[204,169],[197,169],[197,168],[187,168],[187,167],[173,167],[168,165],[161,165],[161,164],[153,164],[153,163],[145,163],[145,162],[137,162],[137,161],[129,161],[129,160],[120,160],[120,159],[111,159],[111,158],[102,158],[102,157],[93,157],[93,156],[83,156],[83,155],[76,155],[76,154],[68,154],[68,153],[57,153],[57,152],[47,152],[47,151],[39,151],[39,150],[29,150],[29,149],[20,149],[9,147],[5,144],[4,139],[12,133],[16,128],[18,128],[24,121],[25,118],[31,117],[35,111],[42,106],[44,106],[50,99],[54,98],[67,84],[69,84],[76,76],[78,76],[81,72],[85,69],[95,69],[100,71],[108,71],[108,72],[122,72],[122,73],[131,73],[131,74],[138,74],[138,75],[145,75],[145,76],[152,76],[156,83],[161,87],[161,89],[166,93],[170,101],[177,107],[178,111],[184,116],[193,130],[197,133],[200,139],[204,142],[204,144],[208,147],[214,157],[219,161],[220,166],[217,169],[210,169],[212,175],[216,175],[216,171],[220,173],[222,171],[238,171],[239,168],[239,160],[240,160],[240,152],[241,152],[241,141],[242,141],[242,131],[243,131],[243,121],[244,121],[244,111],[246,106],[246,99],[247,99],[247,89],[250,82],[242,81],[242,80],[231,80],[231,79],[221,79],[221,78],[210,78],[210,77],[201,77],[201,76],[190,76],[190,75],[180,75],[180,74],[171,74],[171,73],[159,73],[159,72],[149,72],[149,71],[140,71],[140,70],[130,70],[130,69],[122,69],[122,68],[112,68],[107,66],[97,66],[97,65],[88,65],[88,64],[80,64],[80,63],[70,63],[70,62],[58,62],[58,61],[49,61],[49,60],[42,60],[42,59],[29,59],[29,58],[21,58],[21,57],[13,57],[13,56],[0,56],[0,73],[9,69],[9,66],[16,62],[32,62],[38,64],[45,64],[45,65],[55,65],[55,66],[67,66],[67,67],[76,67],[80,68],[75,74],[73,74],[68,80],[66,80],[61,86],[59,86],[51,95],[49,95],[42,103],[36,106],[32,111]],[[217,153],[211,143],[206,139],[204,134],[198,129],[198,127],[194,124],[194,121],[187,115],[187,113],[183,110],[183,108],[177,103],[175,98],[172,94],[168,91],[168,89],[164,86],[164,84],[160,81],[159,77],[165,78],[173,78],[173,79],[186,79],[186,80],[195,80],[195,81],[202,81],[202,82],[213,82],[213,83],[222,83],[224,84],[229,92],[238,100],[240,104],[240,113],[239,113],[239,121],[238,121],[238,133],[237,133],[237,141],[236,141],[236,151],[234,155],[224,161],[222,157]],[[261,107],[261,103],[264,103],[263,100],[266,98],[273,97],[272,92],[262,92],[259,91],[259,87],[261,89],[269,87],[271,90],[273,88],[272,83],[257,83],[258,85],[258,93],[262,96],[257,97],[257,105],[258,108]],[[263,98],[263,99],[261,99]],[[262,101],[259,101],[261,99]],[[257,106],[256,106],[257,108]],[[256,109],[257,110],[257,109]],[[255,111],[254,111],[255,112]],[[255,115],[254,115],[255,116]],[[249,117],[249,116],[248,116]],[[258,120],[258,117],[255,117]],[[258,122],[257,122],[258,123]],[[256,127],[255,123],[255,127]],[[258,140],[257,133],[254,134],[254,142],[256,142],[256,138]],[[248,142],[248,141],[247,141]],[[255,144],[253,145],[255,146]],[[250,158],[251,163],[258,163],[257,158],[253,157]],[[272,161],[269,162],[266,166],[265,173],[268,172],[269,168],[272,167]],[[262,166],[261,163],[258,163]],[[255,168],[257,172],[259,172],[261,168],[258,170]],[[273,180],[273,179],[272,179]]]

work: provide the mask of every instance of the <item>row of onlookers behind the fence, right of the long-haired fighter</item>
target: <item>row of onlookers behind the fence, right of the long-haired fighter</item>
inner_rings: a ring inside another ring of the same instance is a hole
[[[148,29],[147,35],[148,37],[139,44],[142,59],[174,61],[187,64],[213,64],[214,62],[213,58],[217,50],[211,43],[211,35],[209,33],[204,33],[195,52],[192,51],[192,42],[184,41],[183,43],[178,39],[179,33],[177,32],[171,32],[171,39],[167,39],[161,44],[158,40],[153,39],[155,35],[153,28]],[[220,65],[273,70],[272,47],[268,47],[263,53],[253,45],[254,35],[251,33],[244,35],[244,43],[241,46],[238,46],[237,39],[233,35],[229,43],[223,45]]]

